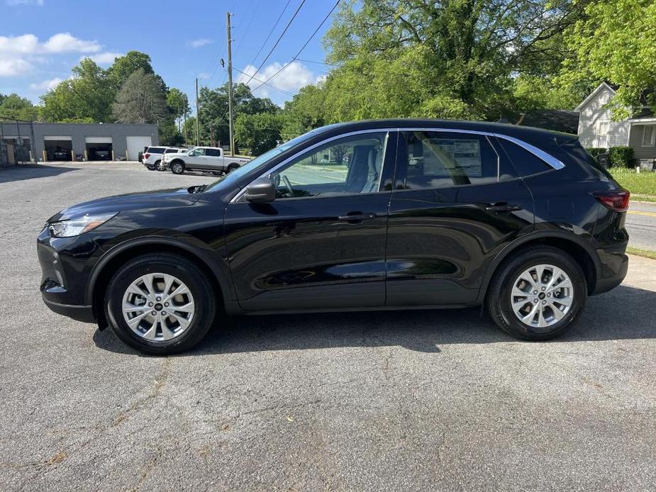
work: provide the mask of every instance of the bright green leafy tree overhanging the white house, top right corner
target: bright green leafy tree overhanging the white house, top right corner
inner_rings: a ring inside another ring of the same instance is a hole
[[[619,86],[613,116],[627,118],[647,104],[656,111],[656,2],[596,1],[567,35],[575,56],[565,62],[562,80]]]

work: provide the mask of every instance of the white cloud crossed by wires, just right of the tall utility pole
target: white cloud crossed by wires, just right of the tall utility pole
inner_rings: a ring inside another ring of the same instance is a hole
[[[284,91],[292,92],[295,93],[301,87],[306,86],[308,84],[316,84],[319,82],[323,76],[317,77],[315,74],[311,72],[308,67],[303,65],[301,62],[294,61],[289,64],[286,64],[287,67],[277,74],[271,81],[268,82],[268,84],[272,84],[276,86],[279,89],[283,89]],[[260,72],[255,73],[255,68],[252,65],[247,65],[242,72],[245,72],[248,74],[248,76],[241,74],[241,76],[237,79],[237,83],[240,82],[246,82],[252,74],[255,74],[255,77],[248,82],[248,86],[250,87],[251,90],[255,89],[257,86],[262,84],[265,80],[267,80],[269,77],[271,77],[273,74],[278,72],[279,69],[284,67],[285,65],[280,64],[279,62],[272,63],[271,65],[267,65],[263,69],[260,70]],[[261,81],[261,82],[258,82]],[[260,87],[260,89],[257,89],[255,91],[258,97],[269,97],[274,94],[279,95],[282,94],[280,91],[277,91],[271,86],[263,85]],[[287,98],[285,98],[287,99]]]

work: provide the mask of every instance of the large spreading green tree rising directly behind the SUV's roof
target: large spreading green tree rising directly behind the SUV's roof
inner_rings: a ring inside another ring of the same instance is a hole
[[[518,74],[554,73],[589,0],[362,0],[326,34],[326,121],[499,118]]]

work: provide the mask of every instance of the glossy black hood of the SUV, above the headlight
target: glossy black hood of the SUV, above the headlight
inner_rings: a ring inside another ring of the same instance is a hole
[[[108,196],[103,199],[96,199],[77,203],[55,213],[48,219],[48,222],[56,220],[67,220],[77,218],[87,213],[108,213],[123,211],[152,210],[153,208],[177,208],[191,205],[200,198],[201,194],[195,194],[195,186],[189,189],[164,189],[157,191],[145,191],[138,193],[127,193],[123,195]]]

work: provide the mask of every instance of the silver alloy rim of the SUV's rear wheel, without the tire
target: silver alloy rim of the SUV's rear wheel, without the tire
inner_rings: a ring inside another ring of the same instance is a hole
[[[511,306],[524,325],[538,330],[558,323],[572,308],[574,286],[569,276],[550,264],[538,264],[513,282]]]

